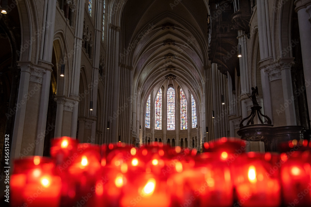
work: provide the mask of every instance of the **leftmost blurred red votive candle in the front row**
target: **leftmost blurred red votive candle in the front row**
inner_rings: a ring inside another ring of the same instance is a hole
[[[61,179],[54,174],[55,165],[39,156],[15,160],[11,177],[12,206],[57,207],[60,201]]]

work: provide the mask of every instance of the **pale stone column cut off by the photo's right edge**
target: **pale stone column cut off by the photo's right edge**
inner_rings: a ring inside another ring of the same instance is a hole
[[[311,118],[311,0],[296,0],[295,11],[298,14],[299,33],[301,41],[302,62],[308,101],[309,117]]]

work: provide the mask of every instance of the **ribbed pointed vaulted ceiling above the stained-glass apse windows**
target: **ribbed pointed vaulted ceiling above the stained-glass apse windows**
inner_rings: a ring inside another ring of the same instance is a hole
[[[141,100],[176,75],[202,101],[208,65],[207,0],[128,0],[121,19],[121,63],[133,67]]]

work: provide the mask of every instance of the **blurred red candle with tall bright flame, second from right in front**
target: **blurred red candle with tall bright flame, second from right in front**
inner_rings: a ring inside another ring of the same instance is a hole
[[[264,154],[240,155],[235,169],[235,185],[238,205],[246,207],[278,207],[281,205],[281,186],[278,171],[269,174],[271,163]],[[269,153],[271,158],[271,154]]]

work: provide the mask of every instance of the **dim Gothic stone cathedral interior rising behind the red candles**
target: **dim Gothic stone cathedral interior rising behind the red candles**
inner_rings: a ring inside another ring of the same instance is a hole
[[[311,0],[0,7],[1,174],[6,146],[49,157],[64,136],[197,152],[235,137],[262,153],[311,138]]]

